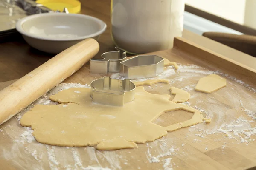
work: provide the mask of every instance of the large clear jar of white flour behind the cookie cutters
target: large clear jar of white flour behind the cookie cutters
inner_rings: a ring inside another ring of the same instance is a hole
[[[111,0],[111,36],[133,54],[172,48],[182,35],[185,0]]]

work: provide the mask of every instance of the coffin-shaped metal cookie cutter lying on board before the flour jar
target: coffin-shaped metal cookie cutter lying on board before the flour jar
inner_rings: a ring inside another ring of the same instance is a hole
[[[125,79],[156,77],[163,72],[164,59],[156,55],[136,56],[120,62],[120,76]]]

